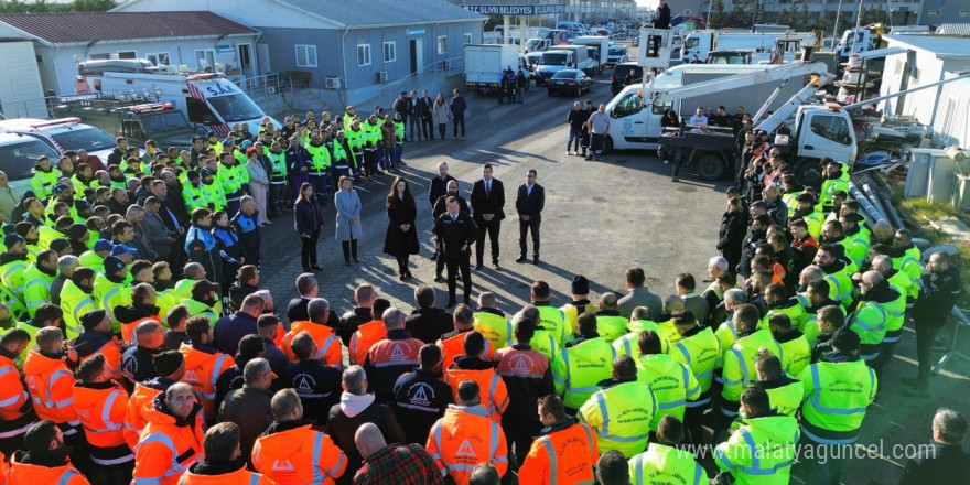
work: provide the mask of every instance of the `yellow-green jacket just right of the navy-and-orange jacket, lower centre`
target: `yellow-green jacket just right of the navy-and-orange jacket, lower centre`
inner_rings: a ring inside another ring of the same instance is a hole
[[[565,407],[579,409],[599,390],[596,382],[613,375],[616,351],[601,336],[581,337],[570,344],[552,360],[552,379]]]

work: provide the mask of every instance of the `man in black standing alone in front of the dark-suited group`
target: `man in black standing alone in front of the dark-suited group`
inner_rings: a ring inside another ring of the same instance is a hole
[[[460,211],[459,201],[448,198],[448,212],[434,222],[434,247],[444,256],[448,267],[448,304],[455,304],[455,287],[457,285],[457,272],[462,272],[462,287],[465,294],[465,304],[472,304],[472,272],[468,268],[472,244],[478,237],[478,228],[472,216]]]

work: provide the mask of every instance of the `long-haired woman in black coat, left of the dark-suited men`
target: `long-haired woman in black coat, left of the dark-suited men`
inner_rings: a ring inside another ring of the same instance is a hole
[[[411,278],[408,258],[418,254],[418,230],[414,228],[418,207],[414,205],[408,181],[403,177],[395,179],[391,184],[386,207],[390,220],[387,224],[387,236],[384,238],[384,252],[397,258],[398,273],[401,281],[405,281]]]

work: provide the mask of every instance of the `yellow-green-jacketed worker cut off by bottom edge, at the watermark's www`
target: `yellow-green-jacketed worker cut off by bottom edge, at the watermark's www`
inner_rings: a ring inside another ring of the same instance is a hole
[[[660,419],[657,441],[629,460],[629,483],[653,485],[676,483],[702,485],[708,483],[704,468],[693,453],[678,446],[683,441],[683,423],[671,414]]]

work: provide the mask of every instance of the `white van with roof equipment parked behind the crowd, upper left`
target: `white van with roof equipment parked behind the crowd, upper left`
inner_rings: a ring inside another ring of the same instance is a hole
[[[256,136],[267,114],[222,73],[192,73],[185,66],[154,66],[147,60],[97,60],[78,64],[78,95],[115,94],[119,99],[170,103],[190,123],[219,137],[248,123]],[[217,66],[218,67],[218,66]],[[277,127],[282,125],[270,118]]]

